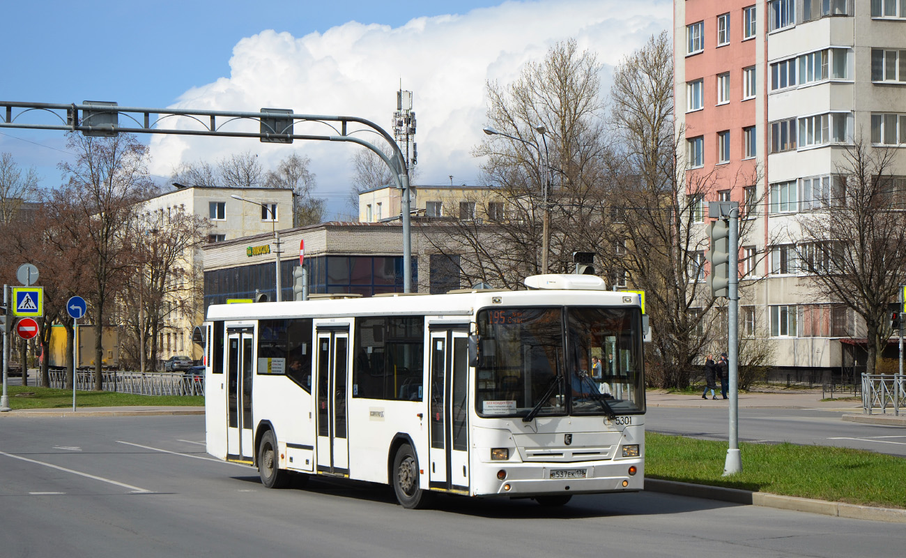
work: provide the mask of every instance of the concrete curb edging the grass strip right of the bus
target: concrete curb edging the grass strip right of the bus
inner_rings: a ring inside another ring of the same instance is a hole
[[[872,507],[870,505],[843,504],[840,502],[826,502],[812,498],[799,498],[797,496],[783,496],[766,492],[751,492],[738,488],[723,488],[721,486],[693,485],[676,481],[664,481],[654,478],[645,479],[645,490],[693,498],[707,498],[732,504],[760,505],[779,510],[806,512],[809,514],[834,515],[850,519],[864,519],[868,521],[883,521],[894,524],[906,524],[906,509]]]

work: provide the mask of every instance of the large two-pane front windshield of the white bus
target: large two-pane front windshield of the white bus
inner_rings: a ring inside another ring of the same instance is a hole
[[[640,322],[639,308],[481,310],[478,415],[644,412]]]

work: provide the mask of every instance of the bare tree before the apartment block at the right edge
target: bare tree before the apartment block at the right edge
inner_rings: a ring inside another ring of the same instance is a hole
[[[906,181],[892,176],[895,157],[855,138],[830,191],[797,220],[795,251],[810,285],[863,318],[869,373],[892,333],[888,305],[906,282]]]

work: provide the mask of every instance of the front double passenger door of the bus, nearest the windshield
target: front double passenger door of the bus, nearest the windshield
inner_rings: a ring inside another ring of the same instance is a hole
[[[429,486],[468,490],[467,330],[431,332]]]

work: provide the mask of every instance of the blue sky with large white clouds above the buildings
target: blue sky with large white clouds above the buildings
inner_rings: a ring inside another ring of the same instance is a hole
[[[68,2],[5,7],[0,100],[115,101],[124,106],[360,116],[390,128],[396,91],[413,92],[419,183],[477,183],[471,156],[485,122],[485,84],[509,83],[526,62],[573,37],[612,67],[670,27],[668,0],[505,3]],[[70,14],[67,16],[67,14]],[[327,133],[318,124],[296,133]],[[376,136],[372,136],[375,137]],[[155,135],[150,170],[160,181],[180,162],[255,152],[266,166],[290,152],[312,159],[329,218],[345,210],[355,150],[349,143]],[[0,152],[34,166],[43,186],[70,161],[61,132],[5,129]]]

